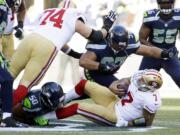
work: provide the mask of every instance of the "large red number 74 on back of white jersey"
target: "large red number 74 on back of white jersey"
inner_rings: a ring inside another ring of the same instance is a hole
[[[58,12],[55,12],[57,10],[55,9],[50,9],[50,10],[46,10],[44,13],[47,13],[46,17],[44,18],[44,20],[41,22],[40,25],[46,25],[47,20],[54,22],[54,27],[57,28],[61,28],[62,27],[62,17],[64,15],[65,9],[61,9]]]

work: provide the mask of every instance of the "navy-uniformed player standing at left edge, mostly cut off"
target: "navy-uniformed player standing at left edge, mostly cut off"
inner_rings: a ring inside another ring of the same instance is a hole
[[[7,25],[8,7],[4,0],[0,1],[0,48],[2,47],[2,35]],[[8,63],[0,49],[0,126],[3,127],[24,127],[25,124],[19,123],[12,118],[12,92],[13,78],[8,72]]]

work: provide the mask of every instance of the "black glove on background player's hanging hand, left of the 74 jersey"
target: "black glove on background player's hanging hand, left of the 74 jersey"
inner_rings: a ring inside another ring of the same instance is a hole
[[[15,32],[15,37],[22,39],[23,38],[23,22],[22,21],[18,21],[18,25],[14,27],[14,29],[16,30]]]

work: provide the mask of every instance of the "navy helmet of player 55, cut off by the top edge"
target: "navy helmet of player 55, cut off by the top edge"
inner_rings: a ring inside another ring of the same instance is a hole
[[[170,14],[174,9],[175,0],[157,0],[160,12],[163,14]]]

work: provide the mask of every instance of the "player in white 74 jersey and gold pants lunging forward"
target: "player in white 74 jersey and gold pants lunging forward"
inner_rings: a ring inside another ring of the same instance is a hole
[[[13,78],[24,69],[19,86],[13,93],[13,104],[24,99],[28,91],[40,82],[58,50],[63,49],[75,32],[97,42],[106,37],[115,19],[115,12],[110,11],[102,29],[93,30],[85,25],[85,16],[77,9],[45,10],[37,21],[36,29],[22,40],[12,57],[10,73]]]

